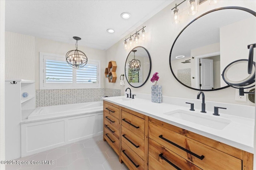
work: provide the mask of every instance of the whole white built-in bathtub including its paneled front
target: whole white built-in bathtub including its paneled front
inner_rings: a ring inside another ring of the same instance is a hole
[[[102,134],[102,102],[38,107],[21,122],[21,157]]]

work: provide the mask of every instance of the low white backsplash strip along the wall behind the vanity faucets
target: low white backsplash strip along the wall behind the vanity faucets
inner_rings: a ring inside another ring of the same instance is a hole
[[[132,94],[136,94],[135,98],[151,100],[151,95],[150,94],[142,94],[142,93],[132,93]],[[205,101],[206,110],[210,113],[214,112],[214,106],[226,107],[227,109],[220,109],[219,112],[224,113],[224,114],[228,114],[228,115],[238,116],[238,117],[255,119],[255,114],[254,114],[255,107],[254,106],[220,103],[220,102],[210,102],[210,101],[207,101],[207,95],[206,94],[205,94],[205,100],[206,100]],[[169,96],[163,96],[163,103],[188,107],[188,109],[189,109],[190,104],[186,104],[186,102],[194,103],[194,108],[196,110],[201,111],[202,96],[200,96],[200,99],[196,99],[196,96],[195,96],[195,99],[174,98],[174,97],[169,97]]]

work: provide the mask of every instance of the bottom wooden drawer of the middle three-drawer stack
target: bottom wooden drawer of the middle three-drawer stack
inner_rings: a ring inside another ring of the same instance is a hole
[[[140,158],[130,147],[128,147],[123,141],[121,142],[121,159],[133,170],[144,170],[144,160]]]

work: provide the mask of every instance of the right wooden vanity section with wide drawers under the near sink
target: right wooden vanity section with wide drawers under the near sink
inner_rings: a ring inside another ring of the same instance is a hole
[[[152,170],[252,170],[253,154],[151,117],[149,138]]]

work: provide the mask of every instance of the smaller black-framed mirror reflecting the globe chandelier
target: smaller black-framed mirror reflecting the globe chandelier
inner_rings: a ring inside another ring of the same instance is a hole
[[[128,54],[125,62],[125,77],[132,87],[143,86],[151,72],[151,58],[144,47],[134,47]]]

